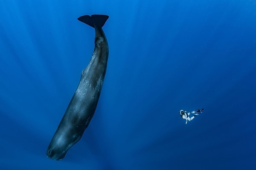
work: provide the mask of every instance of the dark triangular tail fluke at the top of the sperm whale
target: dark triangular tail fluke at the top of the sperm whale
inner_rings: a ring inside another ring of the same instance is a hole
[[[108,20],[108,15],[83,15],[77,19],[93,28],[102,28],[102,26],[104,26],[105,22]]]

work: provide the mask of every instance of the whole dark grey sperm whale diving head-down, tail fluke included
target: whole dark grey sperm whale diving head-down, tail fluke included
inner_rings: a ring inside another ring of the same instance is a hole
[[[108,41],[102,30],[108,15],[84,15],[79,21],[95,29],[95,46],[88,66],[47,149],[47,156],[63,159],[76,144],[93,118],[108,63]]]

